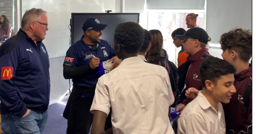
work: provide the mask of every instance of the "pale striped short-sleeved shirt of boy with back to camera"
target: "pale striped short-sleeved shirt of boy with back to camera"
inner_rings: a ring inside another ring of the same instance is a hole
[[[90,111],[109,114],[113,134],[174,134],[168,117],[174,103],[162,66],[129,57],[99,78]]]

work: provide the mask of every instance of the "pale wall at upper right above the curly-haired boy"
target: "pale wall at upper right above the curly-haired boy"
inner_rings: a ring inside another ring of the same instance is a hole
[[[252,0],[207,0],[206,31],[211,43],[236,27],[252,30]]]

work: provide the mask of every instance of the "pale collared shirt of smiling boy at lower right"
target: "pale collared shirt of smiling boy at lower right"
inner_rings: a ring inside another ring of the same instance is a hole
[[[226,123],[221,103],[218,112],[199,91],[178,119],[178,134],[226,134]]]

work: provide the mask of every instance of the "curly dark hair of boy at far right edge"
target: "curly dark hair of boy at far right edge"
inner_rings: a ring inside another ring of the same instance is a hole
[[[236,51],[241,60],[249,62],[253,52],[253,36],[250,30],[236,28],[221,35],[221,49]]]

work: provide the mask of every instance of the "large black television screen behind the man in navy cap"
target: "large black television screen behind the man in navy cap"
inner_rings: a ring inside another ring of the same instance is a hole
[[[96,18],[102,24],[108,26],[102,31],[103,40],[113,46],[114,31],[119,23],[136,22],[139,23],[139,13],[71,13],[71,45],[80,40],[84,31],[82,26],[87,18]]]

